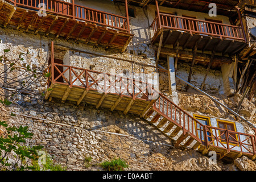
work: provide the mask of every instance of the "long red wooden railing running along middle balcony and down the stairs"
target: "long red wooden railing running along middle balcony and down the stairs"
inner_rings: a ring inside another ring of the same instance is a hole
[[[158,92],[148,82],[135,80],[123,75],[110,75],[83,68],[54,63],[53,42],[51,44],[51,63],[45,69],[48,75],[47,88],[51,84],[64,84],[71,87],[96,90],[102,93],[118,94],[140,100],[155,100],[152,109],[168,121],[189,133],[193,139],[205,146],[224,148],[228,152],[238,151],[256,155],[256,135],[239,133],[218,127],[203,125],[186,111]],[[57,75],[55,75],[57,73]],[[62,78],[62,81],[59,81]],[[114,80],[112,80],[114,78]]]

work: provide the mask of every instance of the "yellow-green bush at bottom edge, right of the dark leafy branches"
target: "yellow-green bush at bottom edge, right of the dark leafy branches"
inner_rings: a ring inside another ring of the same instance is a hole
[[[34,171],[66,171],[67,167],[55,164],[49,154],[46,154],[46,163],[39,165],[38,160],[32,161]]]

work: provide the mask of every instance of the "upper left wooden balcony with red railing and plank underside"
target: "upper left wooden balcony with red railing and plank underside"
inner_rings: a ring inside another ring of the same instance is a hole
[[[79,6],[75,1],[42,0],[40,5],[38,0],[1,1],[0,23],[121,51],[133,37],[127,17]]]

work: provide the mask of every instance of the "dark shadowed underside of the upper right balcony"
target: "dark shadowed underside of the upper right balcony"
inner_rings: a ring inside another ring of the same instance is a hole
[[[179,47],[183,49],[194,49],[198,40],[197,50],[199,51],[213,51],[216,44],[216,52],[225,54],[234,54],[246,46],[245,42],[232,40],[232,39],[220,39],[214,36],[208,36],[203,34],[189,34],[188,32],[159,29],[154,37],[152,43],[159,44],[160,34],[163,31],[163,46],[173,46],[174,48],[179,41]]]

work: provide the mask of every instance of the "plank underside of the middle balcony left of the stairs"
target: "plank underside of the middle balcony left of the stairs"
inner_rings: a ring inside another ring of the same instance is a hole
[[[65,95],[65,90],[67,89],[68,89],[68,85],[55,83],[48,97],[62,99],[63,96]],[[80,97],[84,92],[85,92],[84,88],[73,86],[66,100],[77,102],[79,101]],[[85,102],[86,104],[94,105],[96,107],[98,106],[98,107],[105,107],[107,109],[111,109],[112,106],[116,102],[118,102],[118,98],[120,97],[119,94],[109,93],[109,94],[106,94],[106,96],[104,97],[104,100],[101,102],[102,96],[103,96],[102,93],[97,92],[97,90],[90,89],[86,93],[85,97],[81,100],[81,103]],[[150,104],[150,101],[148,100],[135,98],[133,104],[129,108],[127,108],[131,100],[132,100],[131,97],[122,96],[121,100],[119,100],[118,104],[113,109],[122,111],[122,112],[124,112],[127,109],[129,113],[141,115],[143,110],[146,109],[148,104]],[[101,102],[100,105],[98,105],[99,102]]]

